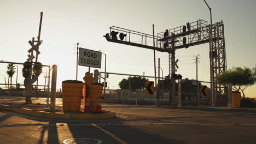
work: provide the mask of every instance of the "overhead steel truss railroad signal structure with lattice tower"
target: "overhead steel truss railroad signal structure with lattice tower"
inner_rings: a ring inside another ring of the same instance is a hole
[[[208,25],[205,20],[197,20],[195,22],[187,23],[187,27],[183,25],[172,29],[166,29],[165,32],[160,32],[157,35],[150,35],[112,26],[110,27],[110,32],[103,37],[106,37],[107,41],[113,43],[168,52],[170,76],[175,74],[176,71],[174,66],[176,50],[209,43],[211,91],[213,91],[211,103],[213,105],[225,105],[226,98],[228,97],[227,86],[215,83],[215,77],[224,73],[227,69],[223,21],[212,25],[212,34],[210,34],[210,29],[211,26]],[[119,39],[117,34],[119,34]],[[155,41],[156,46],[153,46],[153,41]]]

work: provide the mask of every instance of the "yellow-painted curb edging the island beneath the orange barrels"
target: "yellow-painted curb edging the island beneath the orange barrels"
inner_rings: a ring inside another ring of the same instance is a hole
[[[60,112],[45,112],[36,111],[31,109],[24,109],[18,107],[0,107],[0,109],[11,110],[14,112],[22,113],[24,115],[30,115],[38,118],[50,118],[50,119],[103,119],[114,118],[115,112],[108,113],[60,113]]]

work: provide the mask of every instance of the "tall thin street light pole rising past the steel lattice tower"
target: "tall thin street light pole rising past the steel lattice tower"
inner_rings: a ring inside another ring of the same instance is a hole
[[[203,0],[205,1],[205,0]],[[207,4],[207,2],[205,1],[205,4],[207,5],[208,9],[210,10],[210,18],[211,18],[211,26],[210,26],[210,50],[211,50],[211,64],[212,64],[212,75],[211,75],[211,80],[212,80],[212,106],[214,106],[214,101],[213,98],[213,95],[214,95],[214,80],[212,79],[212,76],[214,75],[214,70],[213,70],[213,47],[212,47],[212,8],[209,7],[209,5]]]

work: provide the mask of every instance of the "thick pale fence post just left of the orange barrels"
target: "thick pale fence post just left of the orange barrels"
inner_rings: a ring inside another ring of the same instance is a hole
[[[51,105],[50,109],[55,109],[56,103],[56,81],[57,81],[57,65],[53,65],[53,74],[51,75]]]

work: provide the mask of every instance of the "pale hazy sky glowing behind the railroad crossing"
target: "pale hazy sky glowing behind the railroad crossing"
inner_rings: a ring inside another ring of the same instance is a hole
[[[43,11],[38,60],[46,65],[58,65],[57,87],[61,81],[75,79],[76,52],[74,43],[107,54],[107,71],[113,73],[153,76],[153,51],[141,47],[109,43],[102,35],[110,26],[152,34],[194,22],[198,19],[210,22],[210,13],[203,0],[180,1],[3,1],[0,0],[0,59],[25,62],[30,45],[28,40],[37,38],[40,11]],[[256,50],[254,0],[212,0],[213,23],[224,21],[226,58],[228,68],[247,66],[252,68]],[[183,78],[196,78],[193,55],[201,55],[199,80],[210,81],[209,44],[177,50],[178,74]],[[168,74],[168,54],[156,52],[164,76]],[[104,71],[104,56],[102,69]],[[1,74],[5,74],[0,68]],[[94,70],[94,69],[92,69]],[[79,66],[82,80],[88,67]],[[20,76],[21,77],[21,76]],[[115,77],[117,78],[117,77]],[[123,78],[126,78],[123,77]],[[112,79],[112,80],[111,80]],[[110,88],[118,88],[114,76],[109,78]],[[121,77],[120,77],[121,80]],[[3,78],[0,77],[0,81]],[[118,80],[119,81],[119,80]],[[255,97],[256,86],[249,87],[246,96]]]

